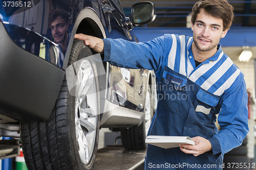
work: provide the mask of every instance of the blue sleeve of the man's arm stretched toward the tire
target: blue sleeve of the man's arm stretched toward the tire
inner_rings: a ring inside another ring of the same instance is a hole
[[[124,68],[159,70],[163,64],[165,36],[147,42],[131,42],[123,39],[103,39],[104,60]],[[169,40],[171,44],[172,41]]]

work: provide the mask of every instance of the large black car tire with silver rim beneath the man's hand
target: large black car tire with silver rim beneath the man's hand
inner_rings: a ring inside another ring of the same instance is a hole
[[[69,65],[82,61],[76,75],[86,83],[79,83],[76,89],[84,91],[72,96],[65,76],[50,118],[46,122],[20,123],[28,169],[92,169],[98,147],[100,106],[96,65],[93,57],[87,57],[91,55],[83,41],[74,40]],[[91,77],[83,76],[86,74],[82,69],[87,69]]]

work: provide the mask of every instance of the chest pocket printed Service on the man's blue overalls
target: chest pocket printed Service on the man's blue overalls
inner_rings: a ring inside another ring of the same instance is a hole
[[[163,105],[170,113],[181,114],[180,105],[182,100],[186,99],[186,95],[184,96],[186,82],[187,79],[177,72],[173,74],[167,71],[163,72],[162,95],[160,97],[163,98]]]

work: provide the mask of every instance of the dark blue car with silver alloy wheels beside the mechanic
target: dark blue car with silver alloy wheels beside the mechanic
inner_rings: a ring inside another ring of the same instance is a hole
[[[118,0],[1,3],[0,136],[21,139],[28,168],[91,169],[100,128],[122,128],[126,149],[145,149],[154,73],[102,63],[74,35],[138,41],[132,27],[154,20],[154,5],[133,6],[130,21]],[[54,18],[59,10],[69,17]]]

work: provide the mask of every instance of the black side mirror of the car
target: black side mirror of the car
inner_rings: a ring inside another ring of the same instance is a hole
[[[151,2],[136,3],[131,9],[131,21],[134,26],[140,26],[154,21],[156,18],[155,5]]]

